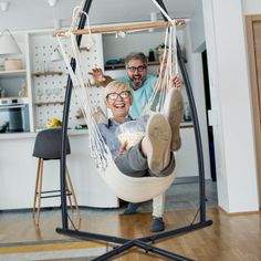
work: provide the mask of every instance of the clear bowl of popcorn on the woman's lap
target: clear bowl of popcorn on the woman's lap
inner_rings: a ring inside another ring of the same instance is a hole
[[[145,135],[145,124],[140,121],[129,121],[117,127],[116,135],[121,144],[126,143],[129,149]]]

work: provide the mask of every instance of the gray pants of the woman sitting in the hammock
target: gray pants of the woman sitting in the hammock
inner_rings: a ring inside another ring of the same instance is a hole
[[[130,147],[123,155],[117,156],[115,159],[117,168],[125,175],[130,177],[144,177],[144,176],[156,176],[148,169],[147,157],[142,153],[142,142]],[[175,157],[171,154],[169,165],[157,176],[167,176],[174,171]]]

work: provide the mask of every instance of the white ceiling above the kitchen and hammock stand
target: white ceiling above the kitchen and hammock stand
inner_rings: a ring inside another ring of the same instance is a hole
[[[71,23],[72,12],[81,0],[56,0],[50,7],[48,0],[0,0],[9,2],[7,11],[0,11],[0,30],[31,30],[54,27],[54,19],[63,25]],[[163,0],[171,18],[190,18],[201,0]],[[159,10],[152,0],[93,0],[90,10],[92,24],[149,20]]]

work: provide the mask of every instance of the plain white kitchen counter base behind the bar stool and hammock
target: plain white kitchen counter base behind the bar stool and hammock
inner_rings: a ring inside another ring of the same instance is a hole
[[[176,154],[177,177],[198,176],[191,123],[182,123],[182,146]],[[38,158],[32,156],[35,133],[0,135],[0,210],[32,208]],[[118,199],[98,175],[88,152],[88,130],[69,129],[71,155],[66,156],[79,206],[117,208]],[[208,178],[208,177],[207,177]],[[59,160],[44,161],[43,190],[59,188]],[[60,206],[60,198],[42,200],[43,207]]]

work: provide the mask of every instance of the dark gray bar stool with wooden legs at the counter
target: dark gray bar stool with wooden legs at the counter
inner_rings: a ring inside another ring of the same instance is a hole
[[[36,225],[40,221],[40,209],[41,209],[41,199],[43,198],[53,198],[61,196],[61,189],[42,191],[42,179],[43,179],[43,161],[44,160],[55,160],[61,159],[62,153],[62,128],[46,128],[38,133],[33,156],[38,157],[38,173],[35,180],[35,190],[34,190],[34,200],[33,200],[33,212],[34,218],[35,207],[38,208],[38,219]],[[69,138],[66,138],[66,155],[71,154]],[[73,189],[72,180],[66,167],[66,195],[69,196],[69,201],[71,209],[73,211],[72,199],[74,201],[75,209],[80,216],[80,210],[77,206],[76,196]],[[38,206],[36,206],[38,202]]]

